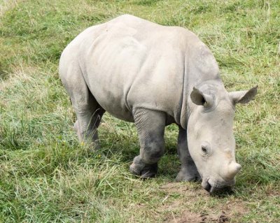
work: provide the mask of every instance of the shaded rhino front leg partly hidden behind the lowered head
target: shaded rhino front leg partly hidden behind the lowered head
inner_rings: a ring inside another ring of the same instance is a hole
[[[181,170],[178,173],[177,181],[195,181],[200,180],[200,174],[197,172],[197,167],[190,152],[188,151],[187,131],[179,126],[178,136],[178,154],[181,161]]]

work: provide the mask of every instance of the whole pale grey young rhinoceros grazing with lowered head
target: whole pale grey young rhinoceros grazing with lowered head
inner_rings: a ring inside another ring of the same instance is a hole
[[[99,147],[97,128],[105,111],[135,123],[135,175],[155,176],[165,127],[175,123],[181,161],[176,180],[202,180],[208,192],[235,185],[241,168],[232,131],[235,105],[251,101],[258,86],[227,92],[214,55],[193,32],[121,15],[76,36],[62,52],[59,77],[80,141]]]

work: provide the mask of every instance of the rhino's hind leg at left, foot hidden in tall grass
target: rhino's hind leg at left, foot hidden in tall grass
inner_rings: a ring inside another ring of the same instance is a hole
[[[76,113],[77,120],[74,129],[78,139],[80,142],[92,143],[94,148],[98,149],[100,145],[97,128],[105,110],[99,106],[90,89],[88,89],[80,67],[73,62],[65,67],[67,69],[63,69],[64,66],[62,66],[59,75]]]

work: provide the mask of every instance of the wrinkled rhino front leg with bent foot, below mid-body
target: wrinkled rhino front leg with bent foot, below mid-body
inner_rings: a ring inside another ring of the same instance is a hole
[[[163,112],[139,108],[134,111],[140,154],[130,165],[130,171],[142,178],[152,178],[158,172],[158,161],[165,152],[165,120]]]

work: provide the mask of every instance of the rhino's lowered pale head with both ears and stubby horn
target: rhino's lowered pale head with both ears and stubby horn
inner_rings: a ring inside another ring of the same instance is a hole
[[[257,88],[229,93],[219,81],[193,87],[189,97],[188,148],[202,187],[208,192],[235,185],[235,175],[241,169],[235,161],[232,130],[235,105],[251,101]]]

